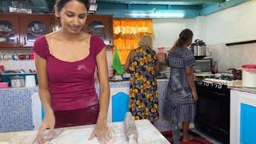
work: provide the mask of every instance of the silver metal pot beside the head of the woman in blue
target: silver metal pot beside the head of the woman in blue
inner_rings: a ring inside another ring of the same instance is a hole
[[[206,57],[206,43],[196,39],[190,46],[195,58]]]

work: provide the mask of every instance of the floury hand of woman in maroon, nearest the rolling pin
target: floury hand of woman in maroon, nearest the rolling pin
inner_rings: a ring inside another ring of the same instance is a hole
[[[106,125],[106,122],[97,122],[96,127],[90,134],[89,140],[93,139],[94,137],[97,137],[98,141],[101,144],[106,144],[110,142],[112,134],[110,133],[110,129]]]

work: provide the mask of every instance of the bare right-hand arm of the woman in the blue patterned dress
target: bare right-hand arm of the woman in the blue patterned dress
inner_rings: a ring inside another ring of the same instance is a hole
[[[194,70],[190,66],[186,66],[186,81],[188,82],[188,84],[192,90],[192,95],[194,97],[194,101],[197,101],[198,93],[197,93],[197,89],[194,84]]]

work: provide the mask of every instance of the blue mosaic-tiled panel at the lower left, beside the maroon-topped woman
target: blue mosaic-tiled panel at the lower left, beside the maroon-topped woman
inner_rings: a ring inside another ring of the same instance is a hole
[[[30,90],[0,90],[0,132],[32,130]]]

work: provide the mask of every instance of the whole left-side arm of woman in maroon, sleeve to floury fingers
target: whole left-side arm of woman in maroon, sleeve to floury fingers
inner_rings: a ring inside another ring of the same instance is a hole
[[[45,110],[46,117],[44,118],[38,135],[42,135],[46,128],[50,128],[50,134],[53,134],[55,126],[54,111],[50,106],[50,91],[48,90],[48,78],[46,73],[46,60],[35,54],[35,66],[38,74],[39,96]]]

